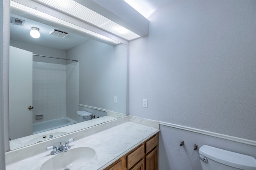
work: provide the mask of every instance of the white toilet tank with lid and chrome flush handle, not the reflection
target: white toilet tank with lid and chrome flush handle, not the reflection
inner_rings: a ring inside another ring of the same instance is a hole
[[[256,159],[252,156],[208,145],[200,147],[199,157],[203,170],[256,170]]]

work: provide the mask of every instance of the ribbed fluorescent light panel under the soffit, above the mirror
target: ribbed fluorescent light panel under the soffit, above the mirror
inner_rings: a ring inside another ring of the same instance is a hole
[[[108,18],[86,8],[85,6],[75,2],[74,0],[38,0],[47,5],[50,5],[58,10],[66,12],[72,16],[80,18],[86,22],[89,22],[95,26],[98,26],[112,34],[116,34],[126,40],[133,40],[140,36],[134,32],[120,26],[119,24],[109,20]],[[122,31],[117,31],[122,30]]]

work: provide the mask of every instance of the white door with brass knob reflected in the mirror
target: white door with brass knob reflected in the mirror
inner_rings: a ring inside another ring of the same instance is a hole
[[[9,135],[10,139],[31,135],[32,56],[33,53],[10,46]]]

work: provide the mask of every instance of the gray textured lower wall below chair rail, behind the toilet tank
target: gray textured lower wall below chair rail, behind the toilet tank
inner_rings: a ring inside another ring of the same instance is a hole
[[[198,145],[197,150],[194,144]],[[198,150],[203,145],[256,158],[256,146],[160,125],[159,170],[202,170]]]

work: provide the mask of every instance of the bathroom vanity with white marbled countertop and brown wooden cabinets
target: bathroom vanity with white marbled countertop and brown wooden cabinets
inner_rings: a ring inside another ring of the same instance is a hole
[[[6,152],[6,170],[157,170],[158,132],[158,121],[127,116]],[[70,138],[67,152],[45,151]]]

